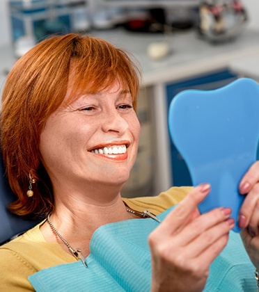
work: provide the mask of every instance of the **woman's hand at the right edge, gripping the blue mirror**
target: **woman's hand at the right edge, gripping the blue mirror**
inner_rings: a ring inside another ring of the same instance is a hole
[[[240,193],[246,194],[239,219],[242,241],[254,266],[259,268],[259,161],[242,178]]]

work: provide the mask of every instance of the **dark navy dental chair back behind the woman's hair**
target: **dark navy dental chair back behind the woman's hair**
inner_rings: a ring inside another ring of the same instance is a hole
[[[0,245],[38,224],[37,220],[23,220],[8,211],[8,204],[15,201],[16,197],[4,174],[5,169],[0,155]]]

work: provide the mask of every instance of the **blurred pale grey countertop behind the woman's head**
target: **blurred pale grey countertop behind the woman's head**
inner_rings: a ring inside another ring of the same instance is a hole
[[[198,38],[195,31],[181,31],[164,36],[161,33],[132,33],[116,29],[93,31],[92,34],[109,40],[136,56],[143,71],[145,86],[188,79],[228,67],[235,60],[259,56],[259,31],[245,30],[235,40],[222,44],[206,42]],[[148,45],[163,40],[168,42],[171,53],[160,60],[152,60],[147,54]],[[12,47],[0,47],[0,84],[14,62]]]

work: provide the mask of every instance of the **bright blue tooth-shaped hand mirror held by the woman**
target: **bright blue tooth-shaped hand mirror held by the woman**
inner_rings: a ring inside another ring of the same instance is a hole
[[[235,232],[244,195],[240,181],[256,161],[259,138],[259,86],[237,79],[217,90],[185,90],[173,98],[168,111],[171,139],[185,159],[196,186],[210,183],[199,205],[201,213],[230,207]]]

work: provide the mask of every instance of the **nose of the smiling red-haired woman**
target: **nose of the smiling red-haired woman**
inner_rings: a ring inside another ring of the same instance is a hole
[[[118,113],[117,109],[105,113],[105,118],[102,121],[102,130],[104,132],[114,131],[123,134],[128,128],[127,120]]]

